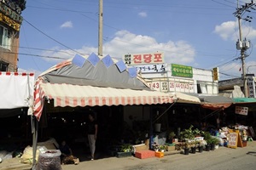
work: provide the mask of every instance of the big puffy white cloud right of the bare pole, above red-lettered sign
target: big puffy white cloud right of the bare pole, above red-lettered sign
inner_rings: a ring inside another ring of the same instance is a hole
[[[121,58],[124,54],[163,52],[166,63],[191,65],[195,49],[188,42],[157,42],[154,37],[136,35],[129,31],[118,31],[112,41],[104,44],[104,54]]]

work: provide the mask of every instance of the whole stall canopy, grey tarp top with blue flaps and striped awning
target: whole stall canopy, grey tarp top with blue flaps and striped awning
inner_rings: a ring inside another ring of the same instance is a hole
[[[40,119],[45,99],[54,106],[154,105],[172,103],[169,94],[154,92],[136,68],[109,55],[76,54],[44,71],[35,84],[34,116]]]

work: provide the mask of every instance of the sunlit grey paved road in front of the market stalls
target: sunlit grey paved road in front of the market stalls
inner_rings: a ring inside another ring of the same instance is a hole
[[[202,153],[174,154],[163,158],[137,159],[136,157],[110,157],[95,161],[82,161],[79,165],[63,165],[63,170],[250,170],[256,169],[256,142],[248,142],[246,147],[218,150]]]

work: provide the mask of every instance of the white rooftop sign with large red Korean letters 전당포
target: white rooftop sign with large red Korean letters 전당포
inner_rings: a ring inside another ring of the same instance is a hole
[[[161,64],[164,63],[164,54],[125,54],[124,62],[125,65]]]

